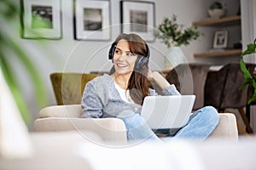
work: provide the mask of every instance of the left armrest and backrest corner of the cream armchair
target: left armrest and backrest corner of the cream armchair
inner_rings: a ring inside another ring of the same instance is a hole
[[[118,118],[80,118],[81,105],[52,105],[39,111],[34,122],[36,132],[88,131],[98,134],[104,141],[126,142],[125,123]],[[88,137],[88,135],[84,135]],[[90,138],[87,138],[90,139]]]

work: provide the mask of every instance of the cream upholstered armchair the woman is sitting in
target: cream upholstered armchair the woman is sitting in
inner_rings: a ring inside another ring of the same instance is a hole
[[[34,122],[35,132],[84,130],[97,133],[103,141],[126,142],[125,124],[117,118],[80,118],[80,105],[53,105],[42,109]],[[236,116],[231,113],[219,114],[218,127],[211,138],[238,139]],[[86,137],[86,135],[85,135]]]

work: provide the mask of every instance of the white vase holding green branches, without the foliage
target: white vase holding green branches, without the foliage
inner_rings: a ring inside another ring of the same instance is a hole
[[[172,70],[179,64],[186,63],[186,57],[179,47],[168,48],[165,59],[165,70]]]

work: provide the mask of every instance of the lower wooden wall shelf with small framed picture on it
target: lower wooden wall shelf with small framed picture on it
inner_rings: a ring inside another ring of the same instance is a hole
[[[224,51],[211,51],[199,54],[194,54],[194,57],[218,57],[218,56],[228,56],[228,55],[240,55],[241,49],[225,49]]]

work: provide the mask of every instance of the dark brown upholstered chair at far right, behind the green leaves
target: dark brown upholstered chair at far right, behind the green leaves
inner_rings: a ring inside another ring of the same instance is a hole
[[[246,66],[252,74],[255,65],[246,64]],[[253,129],[243,111],[243,108],[247,105],[248,91],[248,86],[242,91],[239,90],[243,81],[244,77],[239,63],[230,63],[224,65],[219,71],[208,72],[205,86],[205,105],[212,105],[219,112],[224,112],[227,108],[237,109],[246,125],[247,133],[253,133]]]

